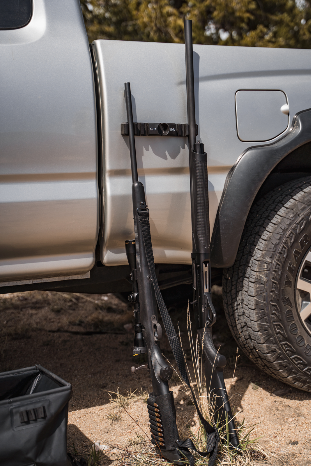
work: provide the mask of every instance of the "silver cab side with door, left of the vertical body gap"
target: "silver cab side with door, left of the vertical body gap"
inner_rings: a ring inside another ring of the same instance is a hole
[[[97,136],[79,1],[1,0],[0,63],[0,282],[85,275]]]

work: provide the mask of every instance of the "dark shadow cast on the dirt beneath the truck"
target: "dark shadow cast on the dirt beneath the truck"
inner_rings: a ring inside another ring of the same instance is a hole
[[[213,287],[213,290],[217,311],[213,339],[216,348],[220,347],[227,359],[224,375],[228,379],[233,376],[237,344],[224,315],[221,288]],[[179,325],[189,362],[187,303],[170,306],[169,312],[176,329]],[[132,356],[131,324],[132,306],[114,295],[44,291],[2,295],[0,371],[41,364],[72,384],[74,394],[70,410],[107,403],[109,391],[116,391],[118,387],[121,392],[151,391],[147,371],[141,370],[135,375],[130,371],[133,364],[145,362],[145,356]],[[161,347],[164,355],[173,362],[166,336]],[[180,383],[178,377],[173,382]],[[254,389],[260,386],[270,393],[287,389],[285,397],[289,399],[310,399],[310,394],[291,389],[261,372],[239,351],[234,381],[234,391],[238,395],[232,399],[236,409],[242,408],[241,399],[249,384],[253,384]]]

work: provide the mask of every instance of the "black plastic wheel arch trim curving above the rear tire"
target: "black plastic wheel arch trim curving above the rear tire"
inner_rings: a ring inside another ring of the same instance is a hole
[[[249,147],[240,155],[227,175],[218,206],[211,241],[212,267],[233,265],[260,187],[282,159],[310,141],[311,109],[306,109],[293,117],[290,131],[284,137],[272,144]]]

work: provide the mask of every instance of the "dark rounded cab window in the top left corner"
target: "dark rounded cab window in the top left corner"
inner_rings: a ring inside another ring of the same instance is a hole
[[[26,26],[32,15],[32,0],[0,0],[0,29]]]

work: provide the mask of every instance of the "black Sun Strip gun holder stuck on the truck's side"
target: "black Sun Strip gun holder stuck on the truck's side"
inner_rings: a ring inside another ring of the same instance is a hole
[[[180,123],[133,123],[135,136],[189,136],[189,125]],[[129,124],[121,123],[121,134],[129,135]],[[196,125],[198,135],[198,125]]]

